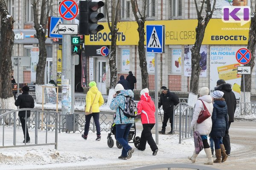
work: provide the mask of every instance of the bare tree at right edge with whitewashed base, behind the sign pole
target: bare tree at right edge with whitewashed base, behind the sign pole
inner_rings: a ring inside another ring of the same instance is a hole
[[[252,1],[251,1],[252,4]],[[248,44],[247,44],[247,49],[250,50],[252,57],[250,62],[245,64],[246,66],[250,66],[251,73],[254,68],[254,59],[255,59],[255,45],[256,45],[256,3],[255,7],[253,9],[253,6],[251,5],[251,21],[250,21],[250,29],[249,29],[249,36],[248,36]],[[243,84],[243,79],[244,79],[244,84]],[[244,102],[250,102],[250,94],[251,94],[251,88],[252,88],[252,75],[251,74],[245,74],[241,78],[241,94],[240,94],[240,101]],[[245,89],[244,89],[245,85]],[[244,91],[245,91],[245,98],[244,98]],[[243,105],[242,105],[243,107]],[[250,112],[250,107],[246,107],[245,112]]]

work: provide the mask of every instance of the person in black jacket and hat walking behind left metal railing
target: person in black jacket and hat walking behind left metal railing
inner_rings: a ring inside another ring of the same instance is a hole
[[[23,93],[18,96],[17,100],[15,101],[16,106],[20,106],[20,109],[23,108],[34,108],[34,99],[31,95],[29,95],[29,86],[25,85],[21,88]],[[20,123],[24,134],[25,139],[25,125],[30,117],[30,111],[19,111],[18,116],[20,117]],[[25,143],[25,140],[23,141]],[[29,131],[28,126],[26,127],[26,143],[30,143]]]

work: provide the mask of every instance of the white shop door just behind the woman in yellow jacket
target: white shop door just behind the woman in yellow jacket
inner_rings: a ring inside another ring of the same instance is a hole
[[[105,59],[97,60],[97,87],[102,94],[107,94],[106,89],[106,61]]]

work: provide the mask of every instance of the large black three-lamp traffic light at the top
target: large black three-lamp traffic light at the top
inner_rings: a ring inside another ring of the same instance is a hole
[[[97,24],[104,17],[104,14],[97,12],[102,6],[102,1],[79,1],[79,34],[97,34],[104,29],[104,26]]]

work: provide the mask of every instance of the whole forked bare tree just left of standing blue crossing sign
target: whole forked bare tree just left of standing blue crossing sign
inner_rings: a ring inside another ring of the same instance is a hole
[[[138,33],[139,33],[139,42],[138,42],[138,51],[140,58],[140,71],[141,71],[141,79],[142,79],[142,88],[148,88],[148,68],[147,61],[145,57],[145,20],[146,20],[146,6],[147,0],[143,0],[143,8],[142,12],[138,8],[137,0],[131,0],[132,12],[134,13],[134,17],[138,24]],[[138,16],[138,14],[139,16]]]

